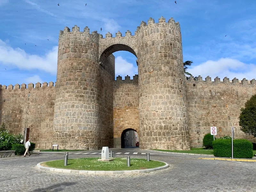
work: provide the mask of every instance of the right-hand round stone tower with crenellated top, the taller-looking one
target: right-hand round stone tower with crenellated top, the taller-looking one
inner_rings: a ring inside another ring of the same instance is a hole
[[[150,18],[137,37],[140,148],[188,150],[180,24]]]

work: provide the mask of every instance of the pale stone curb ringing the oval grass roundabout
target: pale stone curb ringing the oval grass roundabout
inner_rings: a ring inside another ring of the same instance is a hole
[[[53,160],[55,161],[55,160]],[[155,160],[154,160],[155,161]],[[48,161],[44,161],[48,162]],[[41,162],[41,163],[44,163]],[[162,163],[165,163],[163,161],[159,161]],[[83,175],[130,175],[130,174],[139,174],[139,173],[146,173],[146,172],[153,172],[153,171],[159,171],[163,169],[167,169],[169,167],[169,164],[165,163],[162,167],[156,167],[152,169],[143,169],[143,170],[129,170],[129,171],[86,171],[86,170],[73,170],[73,169],[59,169],[59,168],[51,168],[51,167],[44,167],[41,165],[41,163],[38,163],[36,167],[38,169],[42,169],[45,171],[50,172],[63,172],[63,173],[76,173],[76,174],[83,174]]]

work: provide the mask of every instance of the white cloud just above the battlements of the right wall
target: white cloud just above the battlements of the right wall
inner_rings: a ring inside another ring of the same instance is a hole
[[[210,76],[212,77],[212,81],[214,81],[216,76],[218,76],[221,81],[224,77],[228,77],[230,81],[235,77],[238,80],[242,80],[243,78],[252,80],[256,78],[256,65],[246,64],[230,58],[221,58],[215,61],[208,60],[196,66],[192,64],[187,71],[194,77],[202,76],[203,80],[205,77]]]

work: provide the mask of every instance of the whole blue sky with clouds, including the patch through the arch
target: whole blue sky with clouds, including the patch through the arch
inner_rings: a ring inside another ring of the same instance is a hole
[[[180,22],[183,61],[194,62],[188,69],[193,76],[256,78],[255,0],[176,1],[0,0],[0,84],[55,82],[59,31],[65,26],[115,37],[117,31],[134,35],[142,20],[158,22],[161,16]],[[138,74],[132,53],[114,55],[116,76]]]

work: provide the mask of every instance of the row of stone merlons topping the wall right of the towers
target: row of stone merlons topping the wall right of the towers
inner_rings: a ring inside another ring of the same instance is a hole
[[[229,80],[228,77],[224,77],[223,81],[220,81],[220,78],[217,76],[214,78],[214,81],[212,81],[212,78],[210,76],[205,77],[205,81],[203,81],[203,78],[199,75],[198,77],[186,77],[188,81],[194,81],[194,82],[211,82],[211,83],[233,83],[233,84],[256,84],[256,80],[252,79],[250,83],[246,78],[243,78],[243,80],[238,80],[236,77]]]

